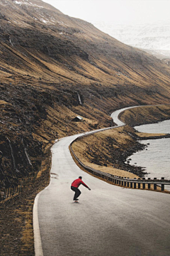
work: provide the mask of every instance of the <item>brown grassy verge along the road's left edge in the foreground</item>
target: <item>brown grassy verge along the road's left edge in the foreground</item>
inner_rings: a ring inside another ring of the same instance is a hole
[[[50,152],[48,152],[50,154]],[[43,162],[35,181],[27,181],[23,193],[0,204],[1,255],[33,256],[33,203],[37,193],[50,181],[50,157]],[[6,225],[4,225],[4,223]]]

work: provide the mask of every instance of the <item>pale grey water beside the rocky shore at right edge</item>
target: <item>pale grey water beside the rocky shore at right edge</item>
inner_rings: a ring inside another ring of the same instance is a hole
[[[159,122],[158,124],[145,124],[135,127],[139,132],[148,133],[169,133],[170,120]],[[134,166],[142,166],[147,171],[147,178],[167,178],[170,179],[170,138],[167,139],[148,139],[140,141],[148,144],[147,147],[138,151],[127,160]]]

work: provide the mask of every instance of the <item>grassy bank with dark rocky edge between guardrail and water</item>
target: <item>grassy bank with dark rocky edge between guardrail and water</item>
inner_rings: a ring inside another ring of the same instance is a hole
[[[72,149],[84,165],[98,171],[129,178],[145,175],[142,167],[125,164],[128,156],[135,151],[145,149],[144,144],[137,142],[137,136],[132,127],[114,127],[111,130],[78,138],[72,144]]]

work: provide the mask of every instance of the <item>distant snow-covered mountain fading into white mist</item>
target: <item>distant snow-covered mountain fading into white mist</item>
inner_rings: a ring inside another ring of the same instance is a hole
[[[158,58],[170,58],[170,22],[114,24],[103,21],[92,23],[102,31],[129,46],[149,50]]]

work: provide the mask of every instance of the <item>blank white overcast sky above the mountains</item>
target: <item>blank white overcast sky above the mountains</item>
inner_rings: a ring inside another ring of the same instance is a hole
[[[155,23],[170,21],[170,0],[43,0],[85,21]]]

